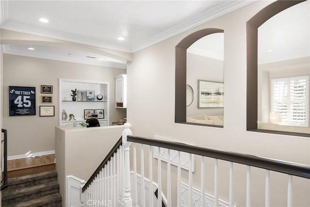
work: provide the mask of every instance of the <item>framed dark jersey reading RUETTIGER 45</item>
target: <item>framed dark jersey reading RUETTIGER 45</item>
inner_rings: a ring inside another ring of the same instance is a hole
[[[35,87],[9,86],[10,116],[35,115]]]

